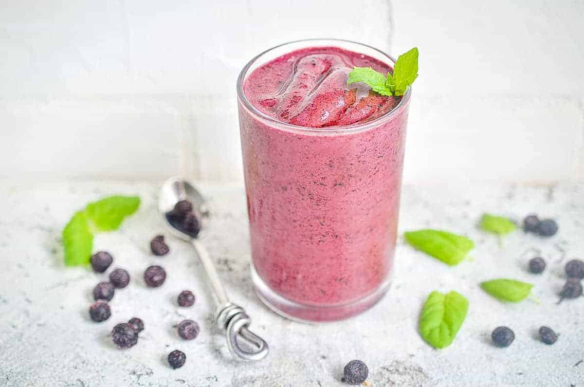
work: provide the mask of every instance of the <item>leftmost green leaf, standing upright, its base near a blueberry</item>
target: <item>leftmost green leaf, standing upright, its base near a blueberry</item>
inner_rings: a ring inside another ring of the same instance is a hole
[[[83,211],[73,215],[63,229],[65,265],[77,266],[89,263],[93,248],[93,234],[89,230],[87,217]]]

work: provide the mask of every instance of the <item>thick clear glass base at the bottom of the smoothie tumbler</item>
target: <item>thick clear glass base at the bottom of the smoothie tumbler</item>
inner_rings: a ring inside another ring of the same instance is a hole
[[[391,276],[388,276],[388,279],[378,286],[375,291],[363,298],[350,303],[315,306],[288,300],[274,292],[259,277],[253,264],[251,264],[251,276],[256,294],[267,307],[287,319],[307,324],[335,322],[359,315],[359,313],[369,309],[383,298],[391,285]]]

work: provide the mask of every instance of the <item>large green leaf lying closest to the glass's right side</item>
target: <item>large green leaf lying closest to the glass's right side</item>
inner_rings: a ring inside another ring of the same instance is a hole
[[[474,242],[467,237],[441,230],[409,231],[405,239],[418,250],[451,266],[457,265],[474,248]]]

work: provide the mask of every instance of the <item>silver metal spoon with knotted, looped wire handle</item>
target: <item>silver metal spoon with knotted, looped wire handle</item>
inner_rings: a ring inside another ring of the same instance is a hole
[[[166,217],[166,213],[172,210],[177,202],[182,200],[187,200],[192,203],[193,211],[199,219],[201,232],[197,237],[193,237],[182,230],[177,229]],[[244,361],[261,360],[266,357],[268,353],[266,341],[248,329],[251,319],[245,313],[245,310],[241,306],[237,306],[230,302],[227,298],[227,293],[225,293],[225,289],[223,288],[223,285],[221,285],[221,280],[215,269],[213,259],[209,255],[207,249],[199,241],[204,234],[204,226],[208,220],[208,210],[203,196],[201,196],[199,191],[184,179],[172,177],[162,185],[158,201],[158,210],[164,218],[164,223],[169,232],[173,236],[190,242],[197,251],[197,255],[199,255],[199,259],[207,272],[211,288],[213,288],[215,302],[217,303],[217,324],[221,329],[225,330],[225,334],[227,335],[227,346],[229,347],[231,354],[234,355],[235,358]],[[241,348],[238,342],[238,340],[241,339],[253,349],[244,350]]]

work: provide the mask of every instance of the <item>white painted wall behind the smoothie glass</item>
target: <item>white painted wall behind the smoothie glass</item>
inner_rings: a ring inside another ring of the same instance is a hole
[[[406,181],[582,180],[583,20],[580,0],[0,0],[0,177],[241,182],[241,67],[338,37],[419,47]]]

